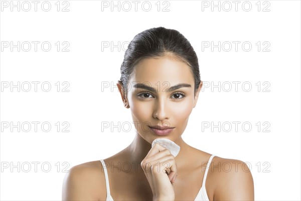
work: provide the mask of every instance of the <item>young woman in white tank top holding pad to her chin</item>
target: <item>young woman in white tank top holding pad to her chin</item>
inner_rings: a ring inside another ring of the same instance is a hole
[[[181,137],[202,84],[198,57],[181,33],[158,27],[137,34],[117,83],[124,107],[131,110],[135,137],[109,158],[72,167],[62,199],[254,200],[244,162],[198,150]],[[179,154],[152,147],[157,138],[175,142]]]

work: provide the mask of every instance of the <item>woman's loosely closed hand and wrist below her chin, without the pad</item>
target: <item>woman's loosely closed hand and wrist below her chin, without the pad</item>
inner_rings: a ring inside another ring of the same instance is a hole
[[[175,182],[177,164],[170,150],[156,143],[140,165],[152,188],[153,200],[175,200],[175,191],[171,182]]]

